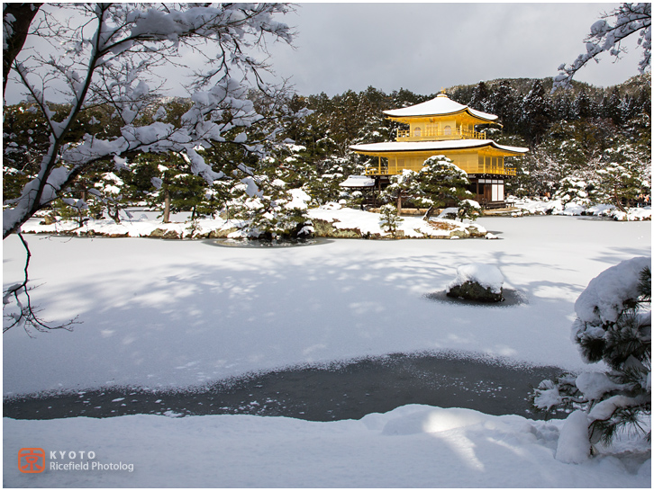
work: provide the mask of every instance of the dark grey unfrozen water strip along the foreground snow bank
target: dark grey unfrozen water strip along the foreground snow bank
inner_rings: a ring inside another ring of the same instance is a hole
[[[191,390],[102,388],[5,399],[3,409],[5,416],[19,419],[238,414],[332,421],[425,404],[538,418],[526,400],[531,387],[559,373],[555,367],[516,367],[490,359],[392,354],[252,374]]]

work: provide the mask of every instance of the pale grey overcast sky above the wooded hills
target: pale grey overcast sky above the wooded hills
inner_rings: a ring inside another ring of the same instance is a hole
[[[269,62],[304,95],[369,85],[386,93],[434,94],[481,80],[556,76],[561,63],[585,50],[590,26],[617,5],[304,3],[279,19],[295,28],[295,49],[272,44]],[[604,55],[576,79],[605,87],[637,75],[641,50],[635,41],[626,43],[629,54],[619,62]],[[193,59],[185,59],[190,67]],[[182,70],[163,73],[168,95],[187,95]],[[21,99],[9,85],[7,103]]]

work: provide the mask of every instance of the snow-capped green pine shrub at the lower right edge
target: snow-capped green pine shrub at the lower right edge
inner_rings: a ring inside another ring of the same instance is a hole
[[[650,305],[650,257],[623,261],[590,281],[575,303],[572,338],[585,362],[605,362],[609,370],[543,380],[531,395],[540,409],[583,411],[586,446],[575,446],[588,454],[595,443],[612,442],[622,428],[650,438],[649,424],[642,424],[651,415]],[[577,452],[576,460],[586,453]]]

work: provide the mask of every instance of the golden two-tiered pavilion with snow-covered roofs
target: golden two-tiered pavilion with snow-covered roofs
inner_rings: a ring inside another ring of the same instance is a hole
[[[498,124],[495,114],[456,103],[446,94],[384,113],[409,129],[398,129],[395,141],[350,146],[358,154],[377,156],[377,165],[366,169],[377,187],[388,183],[389,176],[402,174],[404,169],[419,172],[425,159],[443,155],[466,171],[468,189],[476,194],[479,203],[504,203],[504,180],[515,175],[515,169],[504,167],[504,157],[522,156],[529,149],[499,145],[486,138],[485,132],[477,131],[477,125]]]

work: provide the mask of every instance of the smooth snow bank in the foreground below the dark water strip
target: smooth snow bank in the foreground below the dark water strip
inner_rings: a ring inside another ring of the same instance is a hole
[[[524,488],[537,477],[539,487],[649,488],[647,444],[567,465],[564,449],[575,449],[562,440],[563,424],[418,405],[328,423],[252,415],[5,418],[4,485]],[[46,451],[41,474],[17,469],[27,442]],[[123,470],[49,468],[50,451],[71,450],[94,451],[95,461]]]

